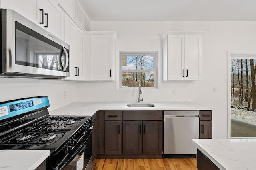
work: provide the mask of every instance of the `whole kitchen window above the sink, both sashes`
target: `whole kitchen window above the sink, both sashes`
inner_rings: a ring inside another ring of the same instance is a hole
[[[157,87],[156,52],[120,53],[120,88]]]

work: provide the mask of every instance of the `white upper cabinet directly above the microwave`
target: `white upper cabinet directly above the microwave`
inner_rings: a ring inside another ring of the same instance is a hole
[[[1,0],[1,8],[13,9],[63,39],[64,12],[54,0]]]

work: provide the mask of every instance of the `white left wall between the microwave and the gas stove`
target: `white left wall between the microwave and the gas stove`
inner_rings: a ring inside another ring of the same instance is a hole
[[[64,91],[66,91],[66,98],[64,98]],[[52,111],[76,102],[76,82],[0,78],[0,102],[34,96],[48,96],[49,111]]]

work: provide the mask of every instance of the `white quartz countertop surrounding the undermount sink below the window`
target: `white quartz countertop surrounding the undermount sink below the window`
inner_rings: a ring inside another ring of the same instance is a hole
[[[142,102],[154,104],[154,107],[128,107],[135,102],[74,102],[50,111],[50,115],[89,115],[98,110],[213,110],[195,102]]]

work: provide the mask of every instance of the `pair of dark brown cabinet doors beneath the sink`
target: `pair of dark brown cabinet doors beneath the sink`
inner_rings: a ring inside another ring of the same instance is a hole
[[[124,154],[162,154],[162,121],[123,121]]]

